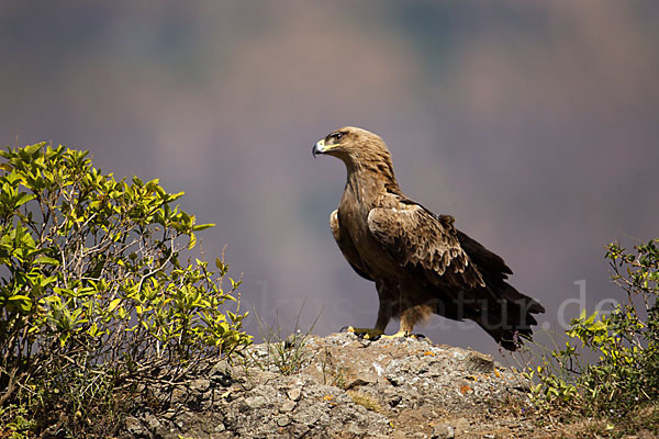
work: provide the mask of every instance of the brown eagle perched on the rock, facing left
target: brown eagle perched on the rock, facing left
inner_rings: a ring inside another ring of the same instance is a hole
[[[312,154],[346,166],[330,226],[350,267],[376,283],[380,300],[376,326],[348,331],[370,339],[411,337],[414,325],[438,314],[476,322],[507,350],[532,338],[534,314],[545,308],[509,284],[513,272],[503,259],[458,230],[453,216],[435,215],[405,196],[380,136],[346,126],[319,140]],[[384,336],[391,318],[400,329]]]

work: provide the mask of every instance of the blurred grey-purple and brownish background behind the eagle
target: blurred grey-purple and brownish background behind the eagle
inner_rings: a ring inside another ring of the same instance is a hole
[[[326,335],[372,326],[378,301],[330,233],[344,166],[311,147],[367,128],[403,191],[501,255],[560,331],[624,299],[607,243],[658,236],[657,23],[652,1],[4,0],[0,140],[186,191],[244,308]],[[417,329],[496,352],[468,323]]]

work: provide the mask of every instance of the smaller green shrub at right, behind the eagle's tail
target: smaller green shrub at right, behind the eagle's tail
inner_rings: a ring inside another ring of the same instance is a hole
[[[528,375],[539,379],[536,402],[615,420],[659,404],[659,239],[634,252],[611,244],[606,258],[627,301],[607,315],[583,311],[567,331],[572,342]],[[583,358],[593,353],[589,364]]]

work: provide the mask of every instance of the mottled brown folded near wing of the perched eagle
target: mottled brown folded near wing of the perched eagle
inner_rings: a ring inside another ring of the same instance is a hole
[[[436,216],[409,200],[395,207],[376,207],[368,229],[380,247],[402,268],[422,274],[433,285],[463,290],[484,286],[481,273],[460,246],[450,215]]]

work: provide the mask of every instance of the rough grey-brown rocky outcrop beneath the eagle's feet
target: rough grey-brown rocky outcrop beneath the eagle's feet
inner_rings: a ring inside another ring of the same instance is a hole
[[[476,351],[333,334],[248,352],[206,376],[150,390],[160,403],[141,403],[123,436],[493,438],[534,430],[502,414],[505,405],[527,404],[528,383]]]

